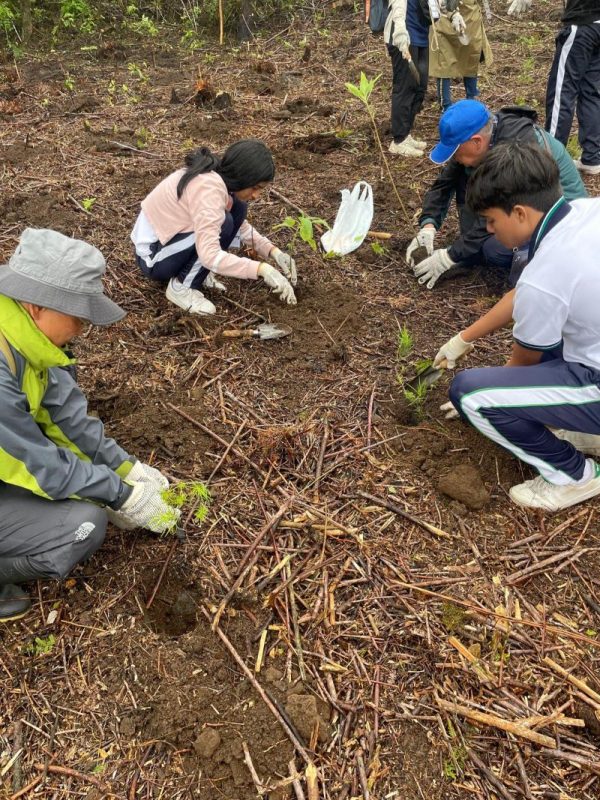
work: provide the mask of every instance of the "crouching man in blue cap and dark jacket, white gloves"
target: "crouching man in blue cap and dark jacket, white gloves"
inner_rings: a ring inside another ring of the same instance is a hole
[[[411,241],[406,260],[413,267],[419,283],[432,289],[440,275],[451,267],[492,266],[522,268],[526,249],[513,252],[488,233],[485,220],[470,211],[465,203],[471,172],[486,154],[500,142],[537,144],[556,161],[560,182],[567,200],[586,197],[587,192],[571,156],[564,145],[537,124],[533,109],[510,106],[491,112],[478,100],[461,100],[442,114],[439,122],[440,141],[430,154],[434,164],[444,164],[437,180],[425,195],[419,218],[419,232]],[[437,231],[448,213],[452,198],[460,223],[460,236],[448,248],[435,249]],[[427,257],[415,263],[415,253],[424,248]],[[514,262],[514,263],[513,263]],[[514,283],[518,275],[515,274]]]

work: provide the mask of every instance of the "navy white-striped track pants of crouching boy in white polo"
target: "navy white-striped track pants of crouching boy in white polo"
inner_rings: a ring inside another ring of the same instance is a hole
[[[480,433],[557,485],[583,476],[585,456],[548,428],[600,434],[600,371],[562,358],[466,369],[452,381],[450,400]]]

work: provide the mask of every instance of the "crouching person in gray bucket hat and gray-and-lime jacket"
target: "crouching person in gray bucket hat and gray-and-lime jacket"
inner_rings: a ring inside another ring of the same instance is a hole
[[[179,517],[168,480],[105,436],[69,370],[64,348],[87,323],[125,316],[105,268],[87,242],[34,228],[0,266],[0,622],[28,611],[19,584],[89,558],[109,518],[161,533]]]

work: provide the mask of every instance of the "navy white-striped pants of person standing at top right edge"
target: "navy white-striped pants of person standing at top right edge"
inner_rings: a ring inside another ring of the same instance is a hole
[[[575,111],[581,161],[600,164],[600,25],[569,25],[556,37],[546,89],[546,130],[564,145]]]

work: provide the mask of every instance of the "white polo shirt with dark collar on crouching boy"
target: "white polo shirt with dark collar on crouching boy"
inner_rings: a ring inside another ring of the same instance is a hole
[[[517,282],[513,337],[530,350],[562,342],[565,361],[600,372],[600,199],[569,205]]]

